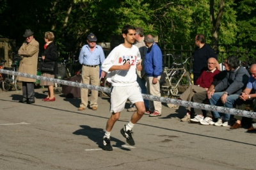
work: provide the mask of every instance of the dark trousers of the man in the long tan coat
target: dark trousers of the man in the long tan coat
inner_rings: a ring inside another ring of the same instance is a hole
[[[22,82],[22,100],[35,101],[34,82]]]

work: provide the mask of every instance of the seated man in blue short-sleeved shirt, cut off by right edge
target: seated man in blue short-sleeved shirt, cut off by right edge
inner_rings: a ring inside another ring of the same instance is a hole
[[[250,68],[250,72],[251,72],[251,76],[249,78],[249,81],[246,85],[246,88],[244,89],[244,91],[241,93],[241,95],[239,96],[239,98],[237,98],[237,104],[236,104],[236,109],[240,109],[240,110],[244,110],[244,107],[246,104],[255,104],[255,101],[253,102],[252,98],[256,98],[256,94],[250,94],[252,92],[252,89],[254,89],[254,91],[256,90],[256,64],[253,64]],[[254,112],[256,111],[256,108],[254,108],[253,110]],[[241,128],[241,120],[243,118],[243,120],[248,120],[250,119],[250,121],[252,121],[251,118],[246,118],[246,117],[242,117],[242,116],[234,116],[234,118],[236,118],[236,123],[234,123],[234,125],[232,125],[232,127],[230,127],[230,129],[236,129],[236,128]],[[255,128],[252,126],[251,128],[248,129],[248,131],[250,130],[254,130]]]

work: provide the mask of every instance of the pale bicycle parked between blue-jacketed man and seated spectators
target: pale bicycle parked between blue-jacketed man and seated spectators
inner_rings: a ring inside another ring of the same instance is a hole
[[[167,55],[172,56],[172,54]],[[183,63],[173,62],[171,68],[164,67],[163,74],[166,77],[164,77],[164,82],[161,86],[162,96],[177,98],[188,86],[193,84],[189,72],[186,70],[186,63],[189,59],[192,58],[186,58]]]

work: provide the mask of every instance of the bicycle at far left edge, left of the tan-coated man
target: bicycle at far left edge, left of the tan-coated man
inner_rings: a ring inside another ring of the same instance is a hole
[[[19,63],[20,58],[15,58],[13,59],[13,65],[12,68],[9,67],[4,67],[4,70],[10,70],[13,72],[17,72],[17,67],[18,67],[18,63]],[[6,60],[2,60],[2,65],[6,63]],[[8,75],[8,74],[3,74],[3,78],[1,80],[1,84],[2,84],[2,89],[3,91],[9,91],[10,89],[15,89],[15,90],[20,90],[21,89],[21,82],[17,81],[17,76],[16,75]]]

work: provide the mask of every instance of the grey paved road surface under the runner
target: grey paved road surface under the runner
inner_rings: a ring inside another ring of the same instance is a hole
[[[21,91],[0,93],[0,169],[256,169],[256,134],[183,123],[186,109],[165,104],[161,117],[135,125],[134,147],[120,134],[132,114],[123,111],[111,132],[116,148],[101,150],[109,98],[97,111],[77,111],[79,98],[42,102],[46,91],[36,89],[31,105],[18,102]]]

